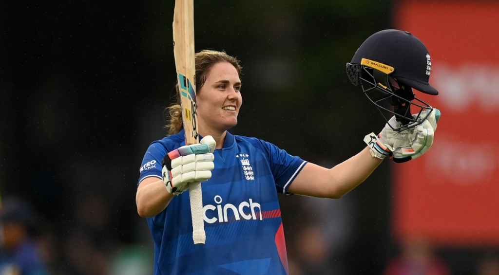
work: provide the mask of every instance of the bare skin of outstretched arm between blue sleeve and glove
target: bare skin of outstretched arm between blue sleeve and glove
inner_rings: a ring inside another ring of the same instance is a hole
[[[361,184],[382,162],[369,147],[331,169],[307,163],[289,185],[288,192],[321,198],[339,199]]]

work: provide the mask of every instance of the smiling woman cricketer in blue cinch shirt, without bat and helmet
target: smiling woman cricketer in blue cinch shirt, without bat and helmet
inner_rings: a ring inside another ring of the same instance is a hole
[[[167,153],[185,145],[181,109],[174,105],[170,136],[152,142],[145,153],[136,203],[154,239],[155,275],[288,274],[277,193],[341,198],[391,153],[394,142],[417,147],[428,139],[423,135],[421,141],[419,135],[401,141],[398,132],[385,128],[375,138],[377,145],[330,169],[315,165],[261,139],[229,133],[243,103],[242,67],[225,52],[204,50],[195,59],[199,134],[202,141],[213,138],[216,146],[213,153],[170,159]],[[194,176],[186,176],[193,170]],[[205,245],[192,241],[190,200],[184,192],[192,181],[203,181]]]

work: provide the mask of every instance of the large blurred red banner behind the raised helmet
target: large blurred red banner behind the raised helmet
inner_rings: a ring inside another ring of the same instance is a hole
[[[435,142],[394,164],[394,232],[445,246],[499,244],[499,2],[402,1],[395,28],[426,45],[438,96]]]

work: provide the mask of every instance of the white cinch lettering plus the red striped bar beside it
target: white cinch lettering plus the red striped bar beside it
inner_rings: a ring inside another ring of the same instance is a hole
[[[261,221],[267,218],[280,217],[279,209],[262,212],[260,204],[257,202],[253,202],[252,199],[249,199],[249,201],[241,202],[238,207],[236,207],[234,204],[231,203],[227,203],[222,206],[222,197],[219,195],[216,195],[214,200],[215,203],[217,203],[217,206],[212,204],[207,204],[203,207],[204,220],[209,224],[215,223],[217,221],[219,223],[240,221],[241,218],[245,220]],[[234,217],[231,218],[228,217],[229,210],[232,211]],[[207,217],[206,215],[207,211],[212,212],[210,216],[213,216],[213,218]]]

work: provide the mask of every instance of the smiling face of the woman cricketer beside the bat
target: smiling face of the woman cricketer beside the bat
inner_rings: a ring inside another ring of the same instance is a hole
[[[229,62],[219,62],[210,69],[204,85],[197,91],[197,113],[202,136],[222,136],[238,124],[241,79]]]

